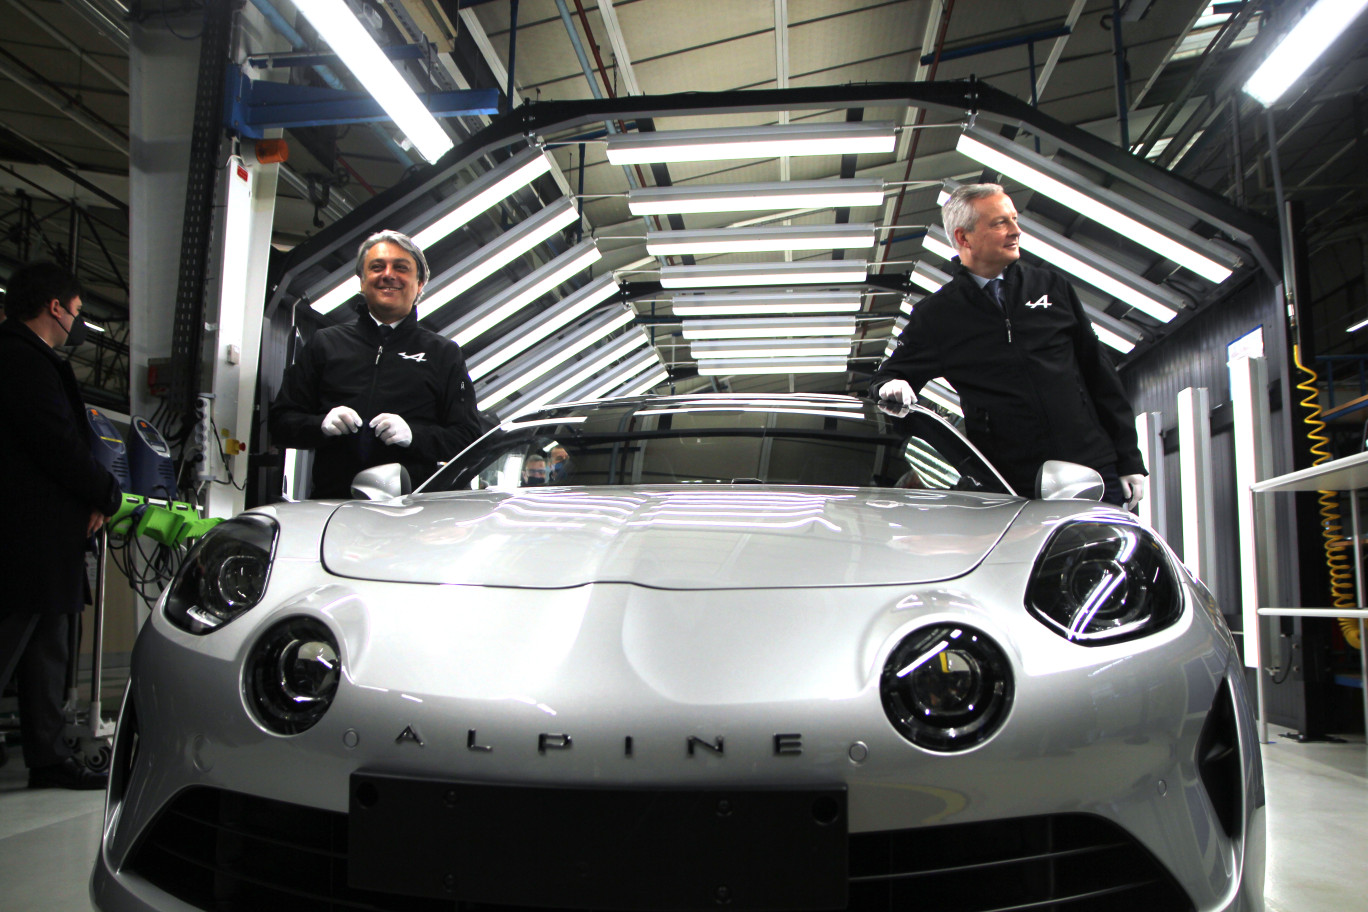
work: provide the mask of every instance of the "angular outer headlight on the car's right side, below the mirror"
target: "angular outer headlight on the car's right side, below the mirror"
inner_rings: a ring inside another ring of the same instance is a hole
[[[1123,522],[1070,522],[1045,544],[1026,607],[1083,645],[1148,636],[1182,615],[1176,572],[1153,535]]]

